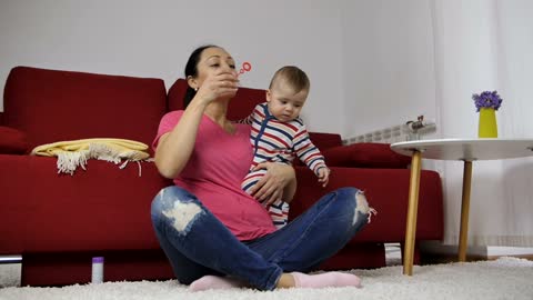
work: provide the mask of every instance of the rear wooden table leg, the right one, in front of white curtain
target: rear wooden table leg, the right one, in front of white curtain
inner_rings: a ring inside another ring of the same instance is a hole
[[[471,183],[472,183],[472,161],[464,161],[463,196],[462,196],[462,202],[461,202],[461,229],[459,232],[459,261],[466,261]]]

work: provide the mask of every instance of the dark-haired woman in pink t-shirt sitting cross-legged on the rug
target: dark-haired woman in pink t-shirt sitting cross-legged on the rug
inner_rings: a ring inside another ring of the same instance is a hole
[[[240,188],[252,160],[250,127],[227,119],[238,90],[235,62],[222,48],[201,47],[185,66],[184,111],[169,112],[153,142],[160,173],[174,179],[152,202],[152,223],[173,271],[192,290],[251,286],[360,286],[354,274],[305,274],[364,226],[362,192],[343,188],[275,230],[266,210]],[[292,167],[262,163],[252,194],[268,202],[295,192]],[[292,198],[292,197],[290,197]]]

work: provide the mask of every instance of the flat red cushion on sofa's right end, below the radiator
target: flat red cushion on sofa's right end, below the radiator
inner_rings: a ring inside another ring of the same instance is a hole
[[[322,151],[330,167],[403,169],[411,158],[391,150],[389,143],[353,143]]]

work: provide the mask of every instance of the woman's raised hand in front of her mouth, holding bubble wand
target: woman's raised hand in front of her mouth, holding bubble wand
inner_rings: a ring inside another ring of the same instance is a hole
[[[234,97],[238,89],[239,79],[234,70],[218,70],[205,77],[194,99],[208,104],[217,99]]]

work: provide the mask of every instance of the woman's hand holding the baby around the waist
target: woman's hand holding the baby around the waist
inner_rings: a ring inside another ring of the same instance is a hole
[[[265,204],[276,200],[290,201],[295,192],[296,174],[294,168],[278,162],[263,162],[255,166],[254,170],[266,169],[266,173],[255,183],[251,194]],[[286,187],[293,187],[285,190]],[[285,191],[285,194],[283,192]],[[291,194],[288,194],[291,193]],[[285,198],[285,199],[282,199]]]

